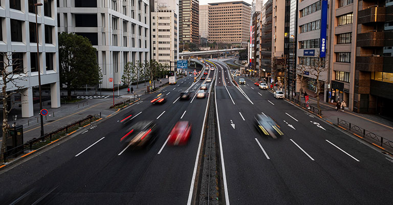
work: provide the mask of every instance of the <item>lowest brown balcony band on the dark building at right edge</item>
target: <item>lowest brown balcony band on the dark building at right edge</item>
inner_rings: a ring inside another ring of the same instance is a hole
[[[391,56],[356,56],[356,69],[367,72],[393,72]]]

